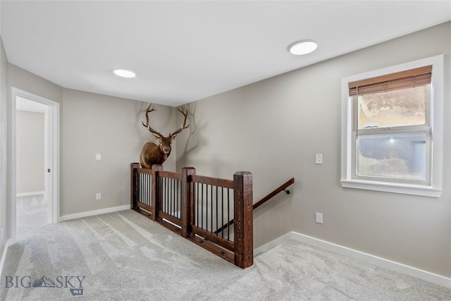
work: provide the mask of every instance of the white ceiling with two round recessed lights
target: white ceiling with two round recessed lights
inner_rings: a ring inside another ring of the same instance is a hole
[[[178,106],[449,20],[451,1],[1,1],[0,28],[62,87]]]

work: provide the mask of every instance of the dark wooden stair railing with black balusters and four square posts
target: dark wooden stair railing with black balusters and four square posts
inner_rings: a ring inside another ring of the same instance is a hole
[[[223,218],[224,204],[227,212],[232,211],[235,216],[233,238],[229,233],[214,233],[230,219],[228,215]],[[225,180],[198,176],[192,167],[173,173],[163,171],[162,165],[145,169],[140,164],[131,164],[131,209],[242,269],[252,266],[254,260],[252,204],[252,173],[247,171],[236,172],[233,180]]]

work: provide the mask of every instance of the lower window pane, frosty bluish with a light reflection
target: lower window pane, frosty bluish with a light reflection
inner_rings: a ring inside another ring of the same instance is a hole
[[[357,176],[426,180],[426,133],[361,135]]]

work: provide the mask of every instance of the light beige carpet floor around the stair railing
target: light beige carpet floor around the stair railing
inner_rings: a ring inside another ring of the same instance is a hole
[[[35,287],[33,287],[35,285]],[[288,240],[242,270],[127,210],[8,248],[1,300],[451,300],[451,290]]]

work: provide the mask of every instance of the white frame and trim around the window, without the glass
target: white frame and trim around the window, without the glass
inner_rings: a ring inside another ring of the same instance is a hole
[[[431,80],[431,110],[428,118],[431,121],[431,180],[424,184],[404,183],[394,180],[366,180],[355,178],[353,169],[353,149],[355,139],[352,135],[352,124],[355,114],[351,97],[349,96],[349,83],[366,78],[375,78],[381,75],[397,73],[404,70],[432,65]],[[443,174],[443,55],[432,56],[418,61],[403,63],[397,66],[373,70],[366,73],[342,78],[342,125],[341,125],[341,185],[343,188],[356,188],[363,190],[376,190],[395,192],[407,195],[421,195],[426,197],[440,197],[442,192]]]

